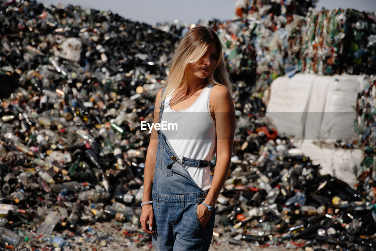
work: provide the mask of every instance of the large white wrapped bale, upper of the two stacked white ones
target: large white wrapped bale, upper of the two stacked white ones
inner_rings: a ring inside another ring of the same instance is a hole
[[[295,139],[356,139],[355,103],[361,77],[298,73],[270,87],[266,116],[279,133]]]

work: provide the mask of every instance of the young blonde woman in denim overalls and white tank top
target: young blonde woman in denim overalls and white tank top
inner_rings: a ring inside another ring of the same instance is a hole
[[[141,226],[153,234],[156,250],[208,250],[235,131],[232,86],[217,34],[204,26],[190,29],[169,67],[153,122],[177,128],[151,132]]]

